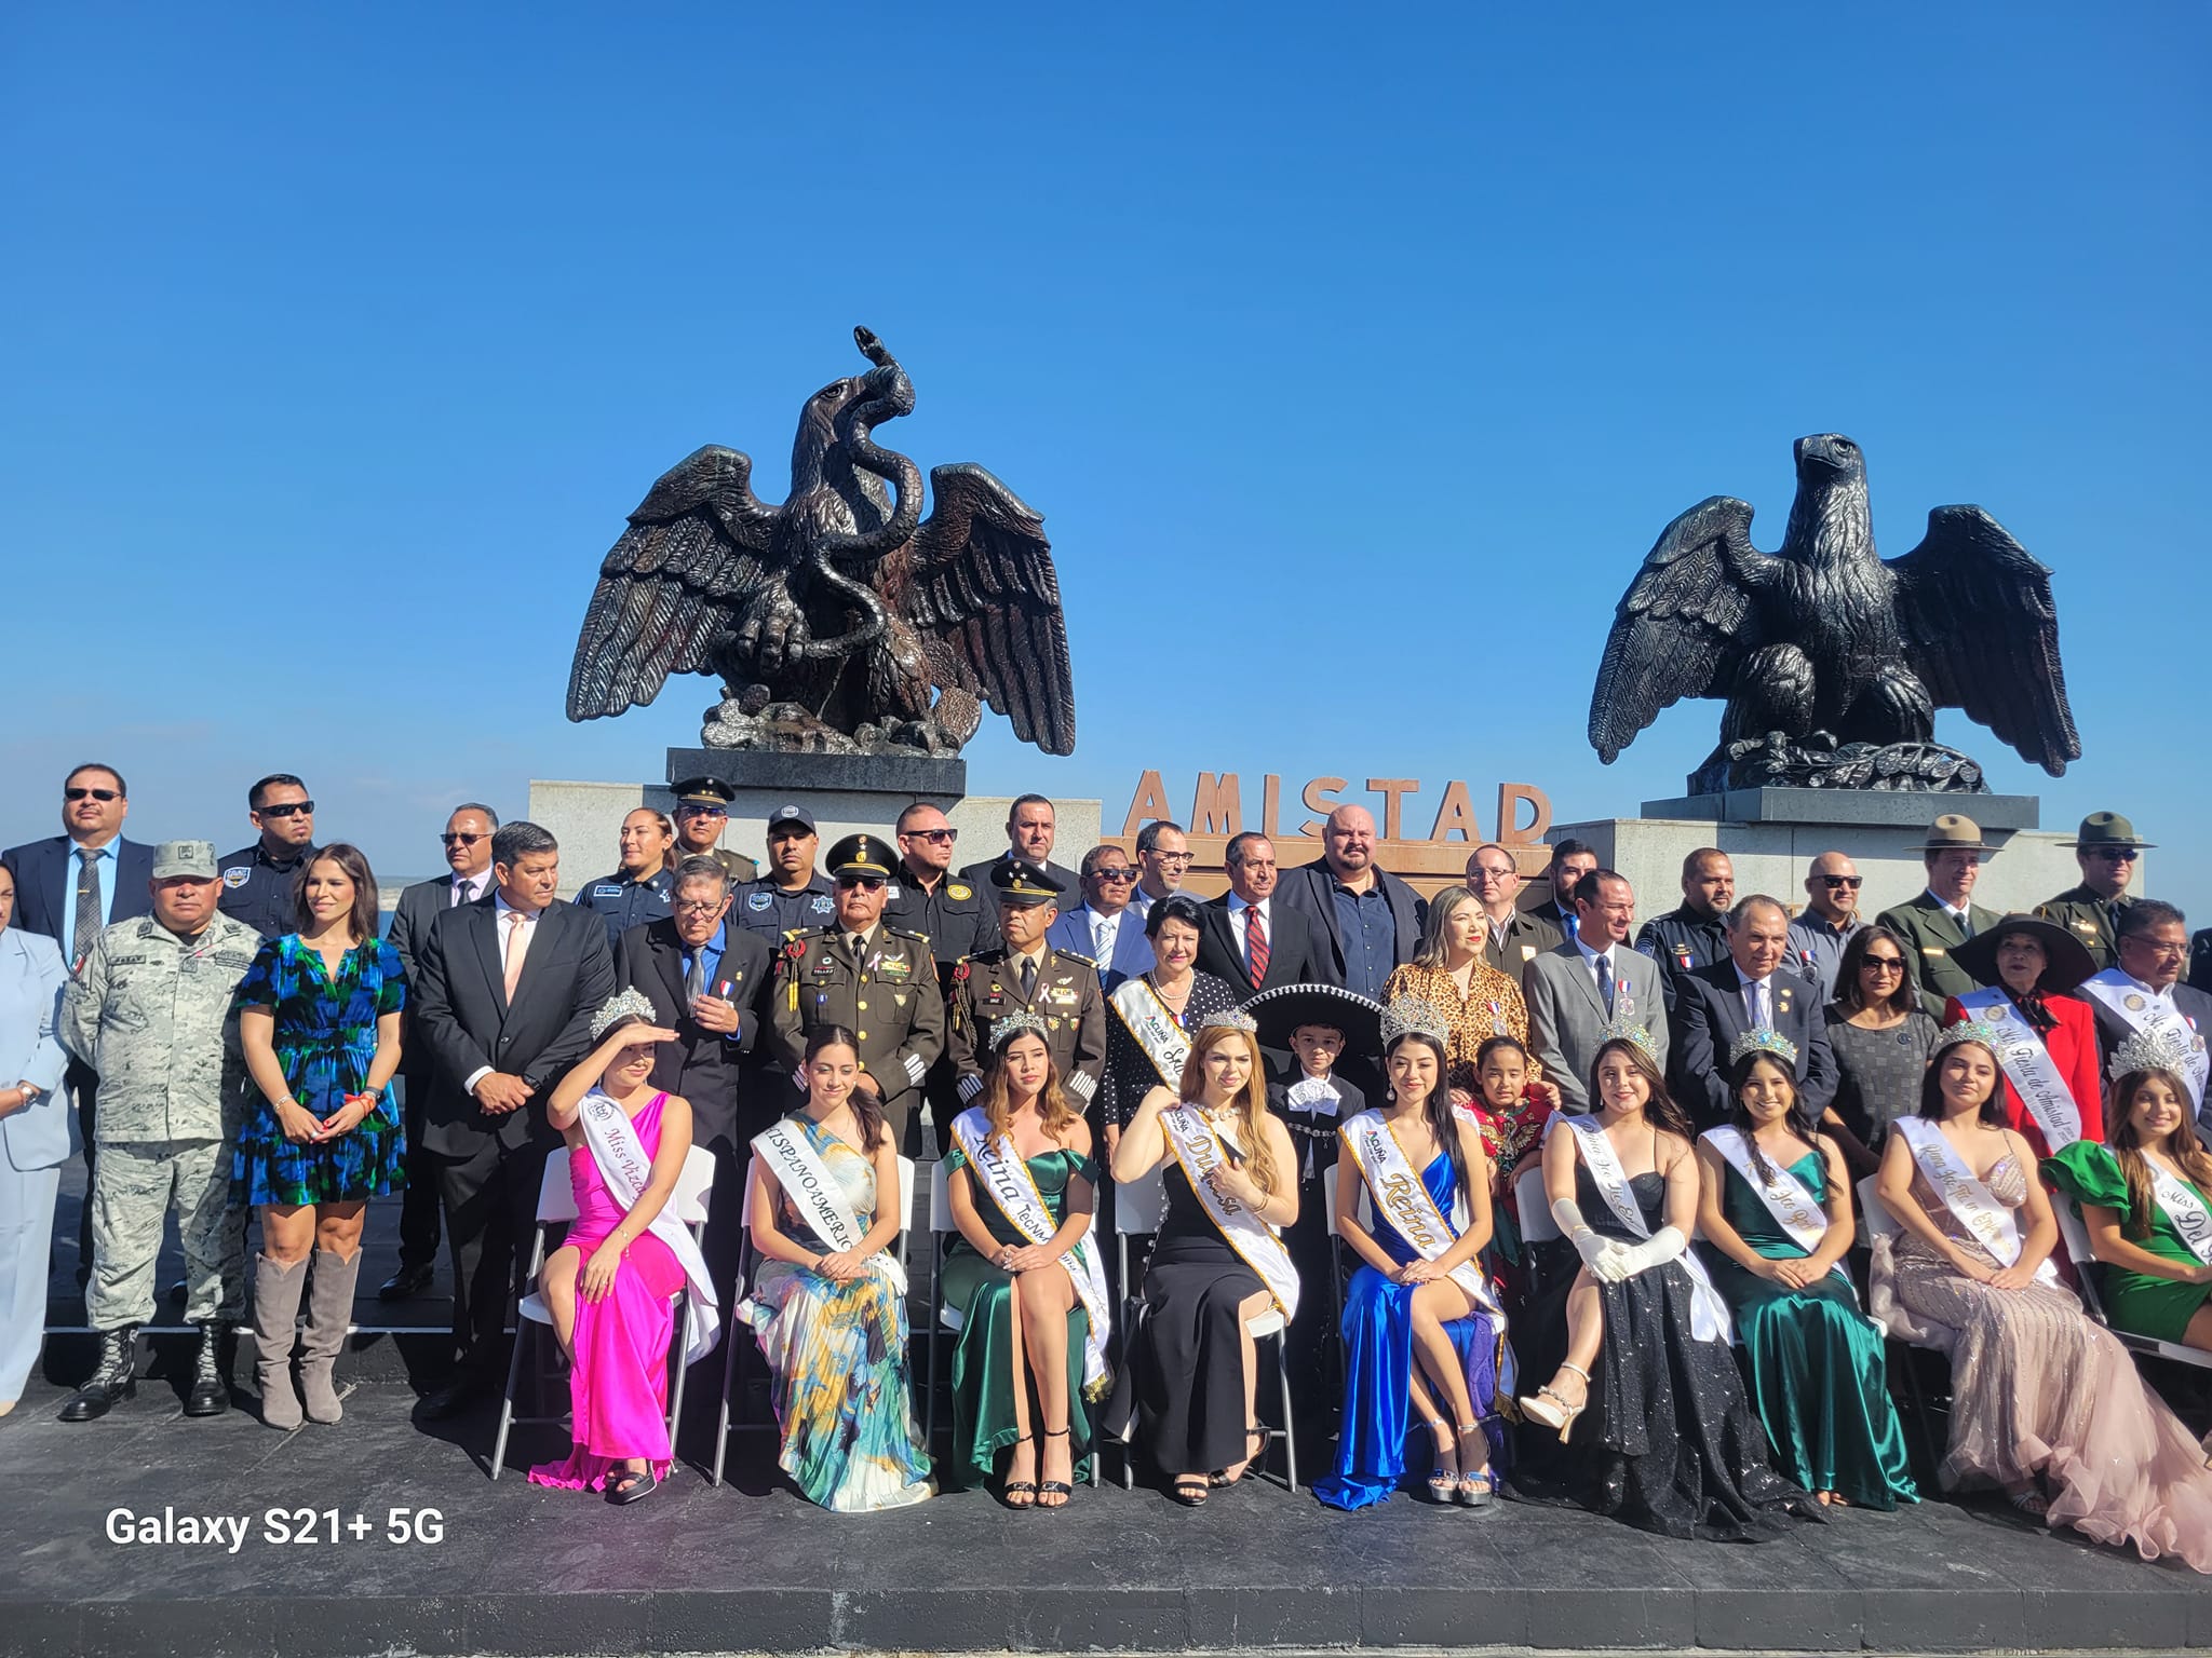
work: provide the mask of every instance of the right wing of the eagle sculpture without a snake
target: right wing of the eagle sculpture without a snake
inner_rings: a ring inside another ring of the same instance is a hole
[[[2081,758],[2051,570],[1980,506],[1938,506],[1902,559],[1898,628],[1905,661],[1938,707],[1962,707],[2020,758],[2064,776]]]

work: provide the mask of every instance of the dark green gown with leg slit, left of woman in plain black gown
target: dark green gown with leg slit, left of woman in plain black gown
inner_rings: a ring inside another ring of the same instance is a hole
[[[956,1145],[945,1154],[945,1172],[967,1167]],[[1029,1158],[1029,1178],[1037,1183],[1053,1222],[1068,1216],[1068,1180],[1075,1176],[1097,1185],[1097,1167],[1077,1152],[1046,1152]],[[991,1236],[1006,1245],[1026,1245],[1013,1222],[991,1198],[978,1194],[975,1214]],[[945,1304],[964,1315],[960,1342],[953,1349],[953,1444],[938,1463],[938,1475],[953,1486],[980,1486],[1018,1437],[1013,1421],[1013,1353],[1009,1331],[1013,1320],[1013,1276],[978,1256],[969,1240],[953,1234],[938,1267]],[[1091,1313],[1082,1298],[1068,1309],[1068,1452],[1075,1457],[1077,1483],[1091,1477],[1091,1410],[1084,1404],[1084,1340]],[[1044,1421],[1031,1402],[1031,1433],[1042,1435]],[[1040,1441],[1042,1452],[1042,1441]]]

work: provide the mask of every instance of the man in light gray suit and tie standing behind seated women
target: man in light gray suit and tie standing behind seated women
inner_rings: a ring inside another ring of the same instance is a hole
[[[1590,1066],[1610,1024],[1650,1032],[1652,1061],[1666,1070],[1666,1004],[1659,964],[1628,948],[1637,895],[1617,869],[1595,869],[1575,882],[1575,940],[1528,964],[1528,1046],[1571,1112],[1590,1110]]]

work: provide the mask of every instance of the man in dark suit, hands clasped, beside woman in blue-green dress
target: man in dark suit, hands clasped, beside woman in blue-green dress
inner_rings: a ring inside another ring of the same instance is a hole
[[[425,1143],[438,1161],[453,1256],[460,1371],[420,1404],[451,1417],[500,1377],[507,1298],[520,1293],[522,1240],[538,1214],[544,1105],[591,1046],[591,1017],[615,995],[606,924],[562,904],[560,842],[535,822],[491,838],[491,898],[449,909],[416,953],[416,1030],[431,1050]]]

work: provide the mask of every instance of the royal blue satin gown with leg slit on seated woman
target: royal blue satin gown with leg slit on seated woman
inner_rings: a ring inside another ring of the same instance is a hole
[[[1358,1178],[1349,1163],[1343,1169],[1343,1178]],[[1420,1172],[1420,1183],[1429,1189],[1436,1211],[1449,1216],[1451,1156],[1438,1152]],[[1405,1265],[1420,1256],[1371,1205],[1367,1227],[1391,1260]],[[1464,1366],[1467,1397],[1473,1399],[1475,1417],[1491,1441],[1491,1477],[1498,1479],[1504,1475],[1506,1457],[1506,1426],[1498,1415],[1502,1349],[1498,1324],[1478,1309],[1444,1324],[1444,1331]],[[1345,1426],[1336,1439],[1336,1472],[1314,1483],[1314,1497],[1329,1508],[1374,1508],[1398,1490],[1407,1466],[1422,1475],[1433,1468],[1429,1428],[1416,1424],[1407,1408],[1411,1368],[1413,1291],[1394,1284],[1374,1267],[1360,1267],[1345,1291]],[[1433,1386],[1429,1391],[1436,1393]],[[1420,1435],[1420,1444],[1413,1446],[1413,1457],[1407,1457],[1407,1441],[1413,1435]]]

